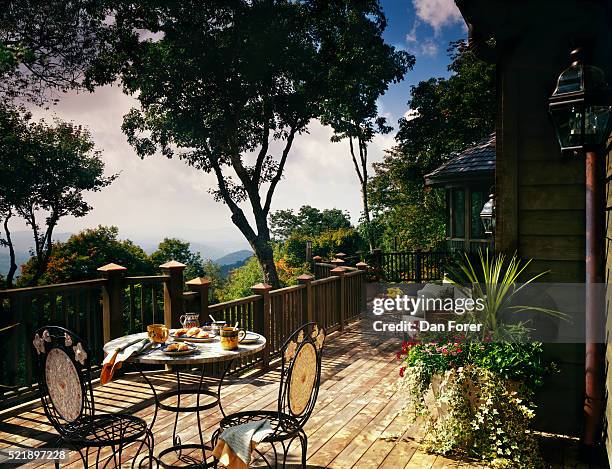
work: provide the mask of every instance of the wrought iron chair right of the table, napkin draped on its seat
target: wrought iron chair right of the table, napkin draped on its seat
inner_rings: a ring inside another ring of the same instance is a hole
[[[325,330],[316,323],[310,322],[297,329],[281,348],[281,379],[278,393],[277,410],[242,411],[226,415],[221,401],[219,407],[223,419],[212,436],[212,445],[216,445],[223,430],[256,420],[268,420],[274,432],[262,443],[270,443],[274,452],[275,465],[270,465],[267,458],[258,449],[259,455],[270,468],[278,467],[276,443],[283,448],[285,467],[291,443],[298,438],[302,447],[302,466],[306,467],[308,438],[304,425],[310,418],[319,394],[321,382],[321,356],[325,342]],[[217,461],[215,461],[215,467]]]

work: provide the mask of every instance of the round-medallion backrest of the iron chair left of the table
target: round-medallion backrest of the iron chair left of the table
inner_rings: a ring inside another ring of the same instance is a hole
[[[45,414],[60,435],[75,436],[94,415],[89,348],[75,333],[58,326],[38,329],[32,344]]]

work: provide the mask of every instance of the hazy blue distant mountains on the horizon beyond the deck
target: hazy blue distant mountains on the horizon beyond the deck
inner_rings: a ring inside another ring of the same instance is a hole
[[[53,239],[55,241],[66,241],[72,233],[55,233]],[[21,266],[30,258],[30,249],[32,249],[32,233],[29,231],[16,231],[12,233],[11,238],[13,240],[13,246],[15,248],[15,256],[17,258],[17,265]],[[147,254],[151,254],[157,249],[158,242],[154,241],[139,241],[133,239],[133,241],[141,246]],[[161,239],[160,239],[161,241]],[[240,249],[238,251],[227,252],[227,249],[214,248],[207,244],[189,241],[191,250],[199,252],[204,259],[213,259],[216,264],[221,266],[221,274],[227,276],[228,273],[236,269],[249,259],[253,252],[248,249]],[[8,249],[0,247],[0,274],[6,275],[10,267],[10,257]]]

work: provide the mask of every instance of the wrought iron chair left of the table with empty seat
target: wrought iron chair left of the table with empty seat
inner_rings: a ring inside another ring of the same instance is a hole
[[[58,444],[78,451],[84,467],[89,467],[90,448],[97,448],[99,467],[101,449],[110,447],[112,456],[103,467],[110,461],[121,467],[125,446],[140,442],[132,467],[143,446],[148,455],[143,456],[139,467],[146,459],[152,466],[153,434],[144,420],[128,414],[95,413],[87,345],[73,332],[57,326],[38,329],[33,345],[40,398],[47,418],[59,433]]]

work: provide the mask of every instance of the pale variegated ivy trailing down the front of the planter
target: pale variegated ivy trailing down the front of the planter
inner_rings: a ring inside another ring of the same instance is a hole
[[[418,367],[414,371],[420,372]],[[529,430],[533,408],[506,380],[479,366],[451,369],[431,391],[434,403],[427,405],[427,391],[422,392],[420,380],[410,379],[412,372],[407,370],[404,385],[413,408],[416,402],[425,418],[427,451],[464,454],[498,468],[543,467]]]

